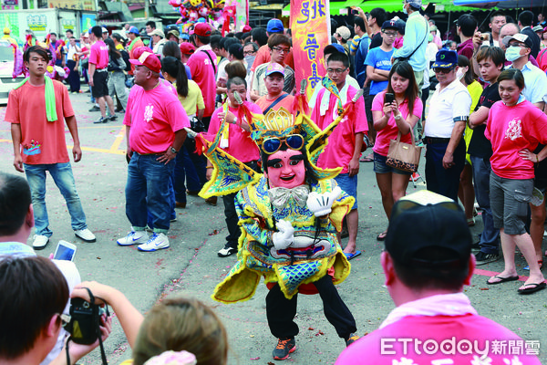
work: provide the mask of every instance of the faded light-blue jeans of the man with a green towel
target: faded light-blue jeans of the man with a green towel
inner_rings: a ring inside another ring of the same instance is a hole
[[[49,172],[59,191],[67,202],[70,224],[77,231],[88,228],[86,214],[82,208],[74,183],[70,162],[29,165],[25,164],[26,181],[32,194],[32,207],[35,215],[36,235],[51,237],[46,209],[46,171]]]

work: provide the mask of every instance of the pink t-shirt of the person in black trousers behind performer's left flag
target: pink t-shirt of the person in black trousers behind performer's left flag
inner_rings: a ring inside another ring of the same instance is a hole
[[[256,104],[250,101],[245,101],[245,105],[249,110],[256,114],[262,114],[262,110]],[[228,110],[232,111],[237,116],[237,109],[229,107]],[[221,128],[222,120],[219,120],[219,113],[222,113],[223,108],[214,110],[211,117],[211,123],[209,124],[208,134],[216,135]],[[222,149],[241,162],[252,162],[258,160],[260,153],[256,143],[251,139],[251,133],[243,130],[237,124],[228,124],[228,147]]]

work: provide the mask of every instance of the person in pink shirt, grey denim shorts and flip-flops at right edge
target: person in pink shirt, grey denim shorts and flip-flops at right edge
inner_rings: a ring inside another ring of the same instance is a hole
[[[490,108],[484,136],[492,145],[490,164],[490,207],[494,226],[500,228],[504,270],[487,281],[489,285],[518,280],[515,267],[515,245],[530,266],[530,276],[519,294],[532,294],[546,287],[536,261],[531,236],[525,221],[532,199],[534,163],[547,156],[547,147],[532,153],[538,143],[547,144],[547,116],[521,96],[524,78],[519,69],[501,72],[501,101]]]

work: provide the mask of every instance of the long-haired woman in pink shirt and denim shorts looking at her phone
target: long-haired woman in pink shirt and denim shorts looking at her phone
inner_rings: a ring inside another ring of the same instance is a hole
[[[377,139],[374,151],[374,172],[382,194],[382,204],[387,219],[391,208],[401,197],[405,196],[411,172],[387,166],[389,141],[397,140],[412,143],[412,129],[421,118],[423,104],[418,95],[418,84],[414,70],[408,62],[398,62],[391,68],[387,89],[377,94],[372,102],[372,117]],[[386,238],[387,231],[377,236],[378,241]]]

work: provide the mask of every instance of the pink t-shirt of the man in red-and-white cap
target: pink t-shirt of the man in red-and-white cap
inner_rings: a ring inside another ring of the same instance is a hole
[[[190,127],[181,101],[160,82],[146,91],[133,86],[123,124],[129,126],[129,146],[140,154],[163,153],[172,146],[175,132]]]

